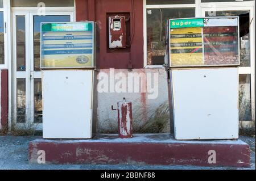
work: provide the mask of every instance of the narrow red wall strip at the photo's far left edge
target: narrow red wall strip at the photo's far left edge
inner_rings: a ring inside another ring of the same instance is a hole
[[[8,70],[1,70],[1,125],[2,128],[8,125]]]

